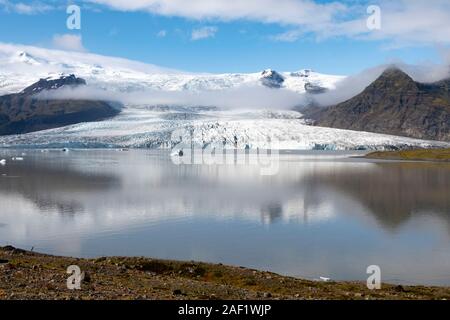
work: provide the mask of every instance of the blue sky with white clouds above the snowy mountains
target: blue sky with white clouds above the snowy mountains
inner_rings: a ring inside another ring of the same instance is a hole
[[[69,29],[69,5],[81,29]],[[191,72],[440,63],[449,0],[0,0],[0,42],[124,57]]]

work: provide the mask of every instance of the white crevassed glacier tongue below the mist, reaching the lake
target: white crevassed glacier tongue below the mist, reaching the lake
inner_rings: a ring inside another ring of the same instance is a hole
[[[235,143],[236,140],[236,143]],[[125,106],[101,122],[0,137],[9,148],[176,148],[181,142],[277,150],[389,150],[449,143],[310,126],[296,111]],[[226,141],[224,145],[224,141]],[[270,141],[270,143],[269,143]]]

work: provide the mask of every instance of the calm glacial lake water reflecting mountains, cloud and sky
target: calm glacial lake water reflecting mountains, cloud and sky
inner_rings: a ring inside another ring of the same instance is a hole
[[[304,278],[450,285],[450,164],[284,154],[175,165],[156,151],[0,150],[0,244],[139,255]]]

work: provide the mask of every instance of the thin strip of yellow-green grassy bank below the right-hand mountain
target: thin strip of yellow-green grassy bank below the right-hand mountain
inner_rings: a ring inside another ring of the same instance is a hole
[[[449,161],[450,149],[418,149],[405,151],[377,151],[366,155],[370,159]]]

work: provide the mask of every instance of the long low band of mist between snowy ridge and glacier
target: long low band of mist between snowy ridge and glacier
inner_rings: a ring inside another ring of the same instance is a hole
[[[361,93],[387,68],[397,67],[415,81],[422,83],[450,78],[450,50],[442,49],[440,53],[442,57],[440,64],[429,62],[410,65],[402,61],[393,61],[348,76],[336,84],[336,89],[322,94],[300,94],[288,89],[271,89],[261,85],[198,92],[150,89],[121,92],[95,86],[82,86],[46,91],[40,94],[40,98],[117,101],[125,105],[211,106],[231,109],[292,109],[311,103],[318,106],[330,106]]]

